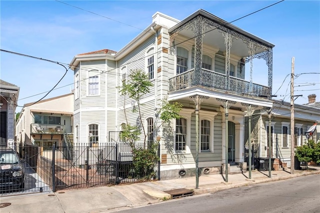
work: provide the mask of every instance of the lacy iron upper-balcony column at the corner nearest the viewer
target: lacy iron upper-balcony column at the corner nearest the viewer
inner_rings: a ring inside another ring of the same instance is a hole
[[[194,82],[193,85],[201,84],[201,69],[202,69],[202,40],[203,40],[203,18],[197,16],[194,21],[193,36],[194,38]]]

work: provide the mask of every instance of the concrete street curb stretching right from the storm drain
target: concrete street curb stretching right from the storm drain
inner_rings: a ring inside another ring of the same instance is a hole
[[[263,183],[263,182],[270,182],[270,181],[277,181],[277,180],[283,180],[283,179],[290,179],[290,178],[294,178],[294,177],[299,177],[299,176],[306,176],[306,175],[310,175],[310,174],[319,174],[320,170],[317,171],[309,171],[309,172],[302,172],[302,173],[298,173],[298,174],[290,174],[287,176],[281,176],[281,177],[271,177],[271,178],[266,178],[266,179],[261,179],[261,180],[248,180],[247,182],[242,182],[242,183],[234,183],[234,184],[230,184],[230,185],[221,185],[221,186],[215,186],[215,187],[211,187],[211,188],[198,188],[194,190],[194,195],[198,195],[198,194],[203,194],[203,193],[212,193],[212,192],[216,192],[219,190],[224,190],[224,189],[229,189],[229,188],[235,188],[235,187],[240,187],[240,186],[246,186],[246,185],[251,185],[251,184],[256,184],[256,183]]]

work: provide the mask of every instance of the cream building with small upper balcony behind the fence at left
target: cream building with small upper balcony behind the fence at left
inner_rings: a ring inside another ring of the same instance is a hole
[[[26,103],[16,121],[18,145],[38,145],[43,149],[72,142],[73,93]]]

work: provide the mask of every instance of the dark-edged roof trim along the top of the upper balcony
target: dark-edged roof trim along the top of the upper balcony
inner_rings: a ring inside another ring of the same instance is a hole
[[[227,27],[227,28],[229,28],[229,29],[231,29],[233,31],[236,31],[236,32],[238,32],[238,33],[240,33],[240,34],[242,34],[244,36],[250,37],[251,39],[254,39],[254,40],[256,40],[256,41],[258,41],[258,42],[260,42],[260,43],[262,43],[262,44],[264,44],[266,46],[269,46],[271,48],[274,47],[274,44],[272,44],[272,43],[270,43],[270,42],[268,42],[268,41],[266,41],[266,40],[264,40],[264,39],[262,39],[260,37],[257,37],[257,36],[247,32],[247,31],[244,31],[243,29],[240,29],[239,27],[237,27],[237,26],[235,26],[235,25],[233,25],[233,24],[231,24],[231,23],[229,23],[229,22],[227,22],[227,21],[225,21],[225,20],[223,20],[223,19],[221,19],[221,18],[219,18],[219,17],[217,17],[217,16],[215,16],[215,15],[213,15],[213,14],[211,14],[211,13],[205,11],[205,10],[203,10],[203,9],[199,9],[199,10],[195,11],[194,13],[192,13],[191,15],[189,15],[188,17],[184,18],[179,23],[177,23],[176,25],[171,27],[168,30],[169,33],[172,32],[173,30],[177,29],[178,27],[182,26],[183,24],[187,23],[192,18],[194,18],[194,17],[196,17],[198,15],[202,15],[202,16],[208,18],[208,19],[211,19],[212,21],[215,21],[215,22],[221,24],[224,27]]]

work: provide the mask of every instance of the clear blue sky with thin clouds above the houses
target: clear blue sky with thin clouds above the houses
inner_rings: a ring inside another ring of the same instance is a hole
[[[54,0],[1,0],[1,49],[69,63],[79,53],[104,48],[120,50],[151,23],[156,11],[182,20],[201,8],[226,21],[233,21],[277,1],[63,2],[82,9]],[[320,1],[285,0],[232,24],[275,44],[273,94],[285,79],[276,92],[276,99],[290,101],[288,74],[294,56],[295,74],[305,73],[294,79],[294,94],[303,95],[294,102],[307,103],[307,95],[312,93],[317,95],[316,101],[320,101]],[[260,63],[265,64],[261,59],[253,64],[253,68]],[[20,87],[20,106],[41,98],[64,72],[62,66],[54,63],[0,52],[0,78]],[[258,72],[254,69],[253,81],[259,78]],[[45,98],[70,92],[72,82],[73,72],[69,70],[56,86],[61,88],[53,90]],[[20,109],[17,107],[16,112]]]

